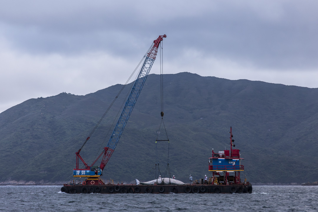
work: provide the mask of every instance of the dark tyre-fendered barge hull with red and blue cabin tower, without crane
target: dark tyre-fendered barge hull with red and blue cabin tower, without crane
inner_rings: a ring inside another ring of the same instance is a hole
[[[240,171],[244,171],[244,166],[240,161],[239,149],[232,149],[234,140],[232,127],[230,131],[231,149],[215,153],[212,149],[212,157],[209,158],[209,171],[211,177],[192,181],[189,184],[173,185],[162,184],[161,178],[157,179],[153,185],[137,184],[114,184],[112,181],[105,183],[101,178],[86,179],[83,183],[69,182],[61,188],[62,192],[70,194],[127,194],[127,193],[153,193],[153,194],[180,194],[180,193],[208,193],[208,194],[231,194],[231,193],[252,193],[252,184],[241,180]],[[192,179],[192,178],[191,178]]]

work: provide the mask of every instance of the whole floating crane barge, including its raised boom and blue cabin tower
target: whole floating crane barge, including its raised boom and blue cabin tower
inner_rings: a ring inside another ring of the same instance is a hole
[[[105,168],[108,160],[113,154],[115,147],[121,137],[121,134],[128,122],[130,114],[135,106],[138,96],[142,90],[143,85],[147,79],[149,71],[156,59],[156,55],[159,49],[159,45],[166,35],[159,36],[154,40],[152,47],[144,56],[143,65],[139,71],[139,74],[135,80],[135,83],[131,89],[128,96],[126,104],[121,112],[121,115],[117,121],[113,133],[107,143],[107,146],[103,148],[102,152],[96,158],[91,165],[88,165],[80,155],[80,151],[90,139],[91,135],[98,127],[102,119],[105,117],[106,113],[113,105],[114,101],[117,99],[120,92],[116,95],[111,105],[108,107],[100,121],[94,127],[93,131],[86,138],[83,145],[76,152],[76,168],[73,169],[73,176],[76,178],[85,178],[83,182],[74,181],[64,184],[61,188],[62,192],[70,194],[79,193],[104,193],[104,194],[124,194],[124,193],[154,193],[154,194],[168,194],[168,193],[252,193],[252,185],[249,182],[242,181],[240,179],[240,171],[244,170],[244,166],[240,165],[240,161],[243,158],[240,157],[239,149],[232,149],[234,140],[232,139],[232,127],[230,132],[231,139],[231,151],[224,150],[214,153],[212,149],[212,157],[209,158],[209,171],[211,176],[205,179],[199,179],[192,181],[190,177],[190,183],[185,184],[180,183],[164,183],[161,178],[154,180],[152,185],[139,185],[136,180],[136,184],[123,184],[114,182],[106,182],[100,177],[103,175],[103,169]],[[125,85],[124,85],[125,86]],[[162,95],[162,94],[161,94]],[[163,104],[161,102],[161,104]],[[163,117],[163,111],[161,111],[161,117]],[[163,121],[163,120],[162,120]],[[160,140],[158,140],[160,141]],[[163,141],[163,140],[161,140]],[[167,140],[169,141],[169,140]],[[157,140],[156,140],[157,142]],[[169,155],[169,154],[168,154]],[[99,166],[96,166],[97,161],[101,161]],[[80,168],[79,161],[83,163],[83,167]],[[169,164],[169,163],[168,163]],[[191,175],[190,175],[191,176]],[[76,183],[75,183],[76,182]]]

